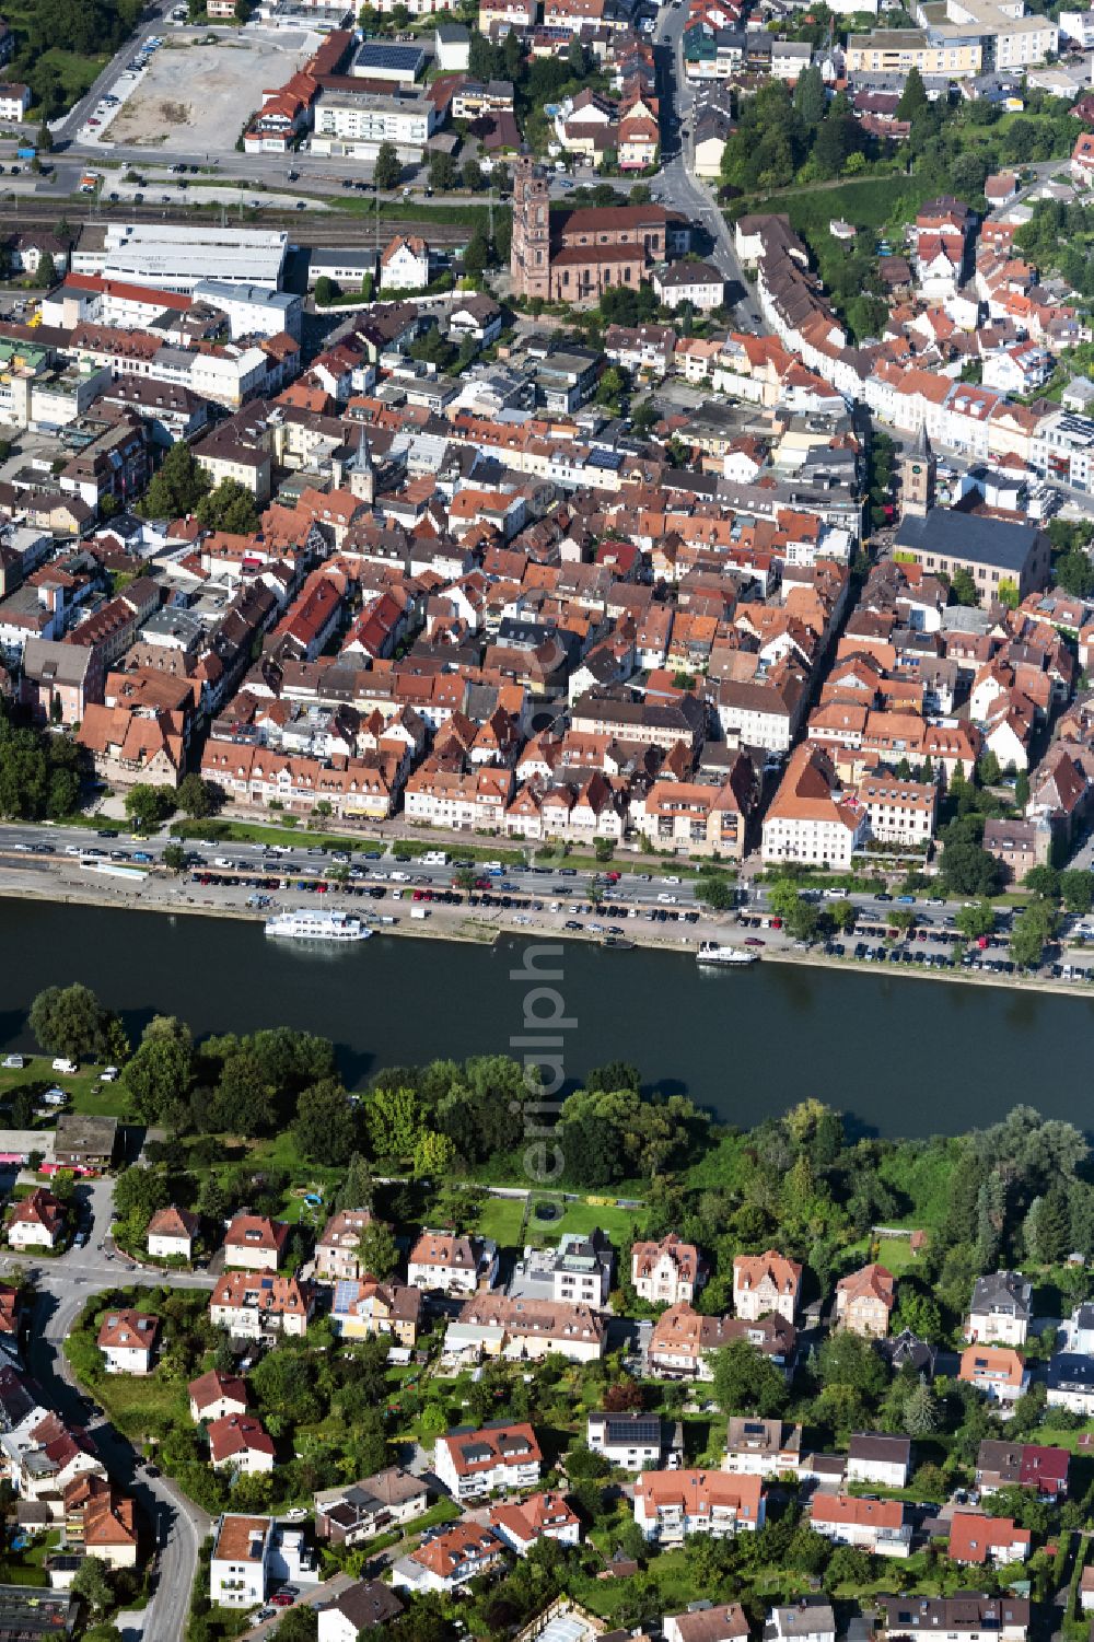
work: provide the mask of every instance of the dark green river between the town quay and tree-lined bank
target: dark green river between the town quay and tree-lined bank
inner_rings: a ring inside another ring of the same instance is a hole
[[[279,1023],[320,1033],[360,1087],[381,1066],[521,1054],[529,982],[511,972],[526,946],[376,936],[304,949],[258,923],[2,900],[0,1048],[33,1048],[34,993],[82,980],[131,1036],[158,1013],[197,1036]],[[572,1084],[626,1059],[647,1085],[742,1126],[815,1095],[866,1133],[956,1133],[1015,1102],[1094,1128],[1083,1071],[1094,998],[774,962],[701,974],[672,952],[560,949]]]

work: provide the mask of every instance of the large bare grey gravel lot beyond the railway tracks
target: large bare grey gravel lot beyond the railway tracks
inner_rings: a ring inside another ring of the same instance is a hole
[[[125,146],[156,148],[163,154],[217,154],[232,146],[246,118],[261,107],[263,90],[281,85],[304,62],[312,34],[209,41],[210,31],[176,34],[164,41],[148,66],[112,89],[123,97],[103,130],[103,140]]]

